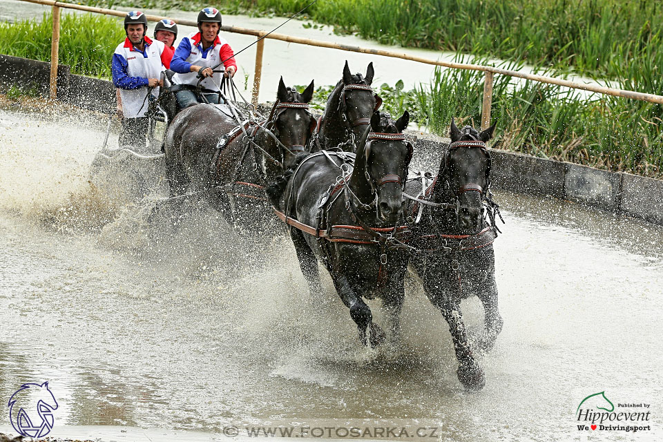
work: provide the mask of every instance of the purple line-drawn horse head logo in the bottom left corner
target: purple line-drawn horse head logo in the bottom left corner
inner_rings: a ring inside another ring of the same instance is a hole
[[[35,400],[37,407],[31,407]],[[8,407],[12,427],[21,436],[43,437],[52,430],[57,401],[48,389],[48,382],[21,385],[9,398]]]

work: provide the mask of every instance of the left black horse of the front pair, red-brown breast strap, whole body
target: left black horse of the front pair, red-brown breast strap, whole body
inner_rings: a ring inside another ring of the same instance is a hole
[[[358,142],[356,158],[328,151],[307,157],[291,177],[281,214],[295,227],[290,235],[311,295],[319,298],[322,291],[320,259],[362,343],[372,346],[386,336],[372,322],[362,296],[383,298],[392,336],[398,338],[407,256],[392,251],[390,240],[398,235],[394,226],[402,215],[403,182],[412,158],[412,145],[402,133],[409,119],[407,112],[396,122],[376,112]]]

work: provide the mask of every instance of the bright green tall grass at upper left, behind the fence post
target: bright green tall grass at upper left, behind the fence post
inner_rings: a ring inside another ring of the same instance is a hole
[[[125,39],[122,22],[103,15],[66,14],[60,22],[59,62],[80,75],[111,77],[115,46]],[[0,53],[50,61],[52,15],[0,23]]]

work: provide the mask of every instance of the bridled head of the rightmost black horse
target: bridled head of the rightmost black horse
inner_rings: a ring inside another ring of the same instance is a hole
[[[492,138],[493,124],[479,133],[472,126],[459,129],[451,121],[451,144],[438,173],[445,191],[456,200],[457,226],[466,233],[483,228],[483,201],[490,187],[490,153],[486,142]]]

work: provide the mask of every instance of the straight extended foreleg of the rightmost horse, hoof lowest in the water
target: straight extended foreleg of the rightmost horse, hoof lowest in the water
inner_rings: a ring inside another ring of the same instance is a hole
[[[450,272],[455,273],[455,272]],[[449,282],[449,285],[445,283]],[[479,363],[474,359],[472,346],[468,339],[468,331],[463,323],[463,314],[459,306],[459,293],[456,289],[450,289],[453,281],[437,281],[434,294],[428,290],[426,294],[430,302],[437,307],[444,319],[449,324],[449,331],[454,343],[454,350],[459,361],[457,375],[459,381],[468,390],[481,390],[486,385],[486,376]],[[445,287],[446,286],[446,287]]]

